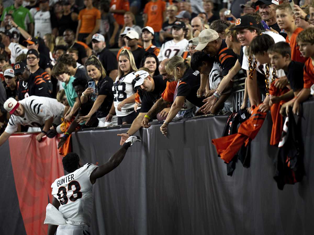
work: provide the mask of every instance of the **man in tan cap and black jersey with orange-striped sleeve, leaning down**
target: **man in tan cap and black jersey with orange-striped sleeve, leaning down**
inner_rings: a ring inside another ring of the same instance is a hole
[[[216,61],[222,68],[222,76],[226,76],[237,61],[236,54],[233,52],[233,50],[228,49],[225,40],[221,39],[214,29],[204,29],[198,35],[198,45],[196,46],[195,50],[203,50],[206,54],[216,57]],[[213,96],[219,98],[222,92],[226,93],[226,91],[217,90]],[[206,103],[201,107],[201,109],[205,108],[205,112],[210,111],[206,109],[208,98],[203,100],[203,102]]]

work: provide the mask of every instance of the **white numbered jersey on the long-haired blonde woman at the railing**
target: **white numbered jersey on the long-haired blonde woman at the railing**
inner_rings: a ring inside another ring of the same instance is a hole
[[[116,77],[116,81],[113,83],[112,91],[113,91],[113,104],[116,108],[117,117],[124,117],[128,114],[134,112],[134,104],[132,103],[125,104],[121,111],[117,109],[118,104],[125,100],[126,98],[132,96],[134,94],[134,87],[132,84],[133,79],[135,78],[135,72],[131,72],[126,76],[123,76],[120,80],[119,77]],[[140,109],[141,107],[138,107]]]

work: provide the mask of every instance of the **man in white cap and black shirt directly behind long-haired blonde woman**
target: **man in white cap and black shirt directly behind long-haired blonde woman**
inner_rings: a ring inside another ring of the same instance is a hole
[[[146,53],[143,48],[140,48],[138,46],[138,39],[139,35],[134,30],[128,31],[127,34],[124,36],[125,43],[127,44],[127,47],[130,48],[130,51],[134,56],[135,65],[137,68],[141,67],[142,59],[144,57],[144,54]]]

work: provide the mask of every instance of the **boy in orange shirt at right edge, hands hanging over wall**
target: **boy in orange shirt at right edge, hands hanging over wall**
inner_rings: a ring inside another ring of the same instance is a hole
[[[301,55],[309,57],[304,65],[303,89],[298,93],[296,97],[287,102],[286,114],[288,115],[289,107],[292,108],[292,112],[299,115],[300,103],[306,101],[311,94],[311,86],[314,84],[314,28],[308,28],[299,33],[296,41],[300,46]]]

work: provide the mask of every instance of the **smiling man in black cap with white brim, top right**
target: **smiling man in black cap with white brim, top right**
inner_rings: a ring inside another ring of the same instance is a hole
[[[266,22],[269,28],[276,30],[280,33],[281,29],[276,23],[276,5],[279,5],[278,0],[259,0],[255,3],[255,6],[259,6],[259,13],[262,20]],[[287,34],[281,34],[284,38]]]

